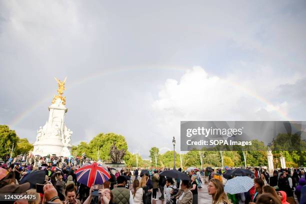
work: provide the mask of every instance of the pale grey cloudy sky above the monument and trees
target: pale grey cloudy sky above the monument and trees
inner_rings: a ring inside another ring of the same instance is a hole
[[[305,120],[306,2],[0,0],[0,124],[35,141],[66,80],[72,144],[179,151],[181,120]]]

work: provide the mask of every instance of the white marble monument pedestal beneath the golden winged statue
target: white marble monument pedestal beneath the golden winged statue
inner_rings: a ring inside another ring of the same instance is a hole
[[[55,153],[57,156],[70,156],[72,131],[67,129],[64,123],[67,108],[59,98],[48,108],[48,121],[37,130],[32,154],[46,156],[47,154],[52,155]]]

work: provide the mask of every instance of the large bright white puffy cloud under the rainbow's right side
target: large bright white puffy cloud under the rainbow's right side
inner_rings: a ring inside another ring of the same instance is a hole
[[[244,84],[242,75],[240,82]],[[265,86],[266,92],[273,88]],[[180,120],[283,120],[287,106],[286,101],[271,103],[247,87],[209,75],[199,66],[188,70],[179,81],[167,79],[152,104],[159,134],[176,137],[180,135]]]

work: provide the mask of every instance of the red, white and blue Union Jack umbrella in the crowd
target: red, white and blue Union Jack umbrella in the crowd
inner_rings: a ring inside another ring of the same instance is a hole
[[[75,171],[76,181],[91,187],[92,184],[103,184],[110,174],[101,164],[84,164]]]

